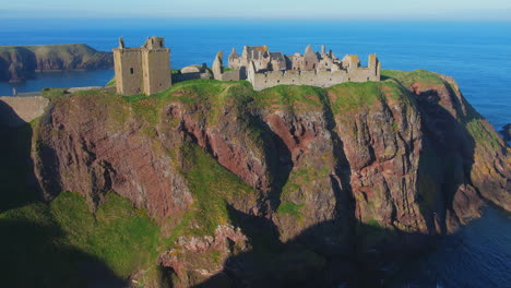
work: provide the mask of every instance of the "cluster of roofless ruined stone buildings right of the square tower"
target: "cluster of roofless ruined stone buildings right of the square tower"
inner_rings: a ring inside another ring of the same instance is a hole
[[[233,49],[229,71],[224,69],[222,58],[222,52],[217,53],[213,63],[215,79],[248,80],[257,91],[281,84],[330,87],[343,82],[380,81],[381,65],[376,55],[370,55],[368,65],[361,67],[358,56],[346,55],[341,60],[324,46],[320,52],[308,46],[304,55],[292,56],[271,52],[268,46],[245,46],[241,56]]]

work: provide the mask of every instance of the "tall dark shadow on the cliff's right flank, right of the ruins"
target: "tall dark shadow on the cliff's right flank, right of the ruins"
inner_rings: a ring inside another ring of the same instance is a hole
[[[459,216],[470,218],[477,214],[478,207],[471,206],[477,203],[477,199],[472,197],[484,200],[475,188],[473,192],[463,188],[472,185],[476,145],[464,122],[483,117],[470,104],[462,103],[449,83],[444,82],[444,85],[449,92],[447,96],[439,95],[437,91],[412,94],[423,118],[421,132],[425,136],[418,166],[418,193],[420,212],[430,233],[455,229],[464,223]],[[459,119],[440,105],[441,100],[451,105]],[[455,204],[454,197],[460,189],[466,191],[464,197],[467,201]],[[466,215],[456,215],[455,211]]]

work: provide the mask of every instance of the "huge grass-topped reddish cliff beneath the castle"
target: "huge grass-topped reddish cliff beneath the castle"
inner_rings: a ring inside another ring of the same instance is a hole
[[[62,95],[34,128],[35,176],[46,201],[72,191],[94,212],[114,191],[146,209],[173,287],[375,286],[356,272],[428,247],[488,202],[511,211],[511,149],[456,83],[384,79]]]

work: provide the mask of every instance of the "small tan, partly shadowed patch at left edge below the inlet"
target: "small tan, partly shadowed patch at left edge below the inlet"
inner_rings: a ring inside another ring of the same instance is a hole
[[[45,97],[0,97],[0,125],[17,127],[45,112],[49,100]]]

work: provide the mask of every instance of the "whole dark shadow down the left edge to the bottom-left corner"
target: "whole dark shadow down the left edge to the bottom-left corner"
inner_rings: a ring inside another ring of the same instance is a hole
[[[1,112],[9,112],[2,104]],[[0,286],[126,287],[99,260],[64,245],[64,232],[44,213],[46,204],[36,203],[32,134],[28,123],[0,125]]]

